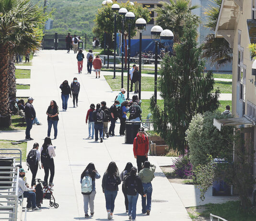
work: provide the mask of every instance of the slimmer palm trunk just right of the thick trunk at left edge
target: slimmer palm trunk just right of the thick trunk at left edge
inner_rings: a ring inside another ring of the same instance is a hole
[[[8,62],[8,92],[9,98],[16,98],[16,78],[15,78],[15,64],[14,64],[14,56],[10,57]]]

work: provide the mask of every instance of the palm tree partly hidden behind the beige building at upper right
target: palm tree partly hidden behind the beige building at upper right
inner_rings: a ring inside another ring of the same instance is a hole
[[[211,2],[213,4],[210,4],[204,11],[207,16],[205,27],[215,31],[221,0],[211,0]],[[232,61],[233,49],[230,48],[229,43],[224,38],[215,38],[214,34],[208,34],[203,46],[203,57],[208,58],[212,65],[220,67]]]

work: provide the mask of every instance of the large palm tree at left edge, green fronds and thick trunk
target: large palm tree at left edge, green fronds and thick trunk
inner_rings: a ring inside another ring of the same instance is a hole
[[[0,126],[11,125],[8,96],[8,65],[15,53],[40,48],[47,16],[30,0],[0,0]]]

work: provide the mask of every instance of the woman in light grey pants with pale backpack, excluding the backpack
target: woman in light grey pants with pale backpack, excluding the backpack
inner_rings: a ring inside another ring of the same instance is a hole
[[[94,214],[94,198],[96,194],[95,190],[95,179],[99,179],[101,176],[95,169],[95,166],[93,163],[89,163],[84,171],[81,174],[81,179],[80,183],[82,183],[82,180],[84,177],[89,176],[92,178],[92,185],[93,185],[93,190],[89,195],[83,194],[83,209],[84,209],[84,217],[89,218],[88,215],[88,204],[90,205],[90,210],[91,210],[91,216]]]

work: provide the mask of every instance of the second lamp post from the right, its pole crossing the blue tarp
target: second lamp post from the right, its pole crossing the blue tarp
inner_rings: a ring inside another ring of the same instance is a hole
[[[163,28],[159,25],[155,25],[151,28],[151,39],[155,42],[155,87],[154,87],[154,97],[155,103],[157,103],[157,56],[158,56],[158,43],[159,35],[163,32]]]

